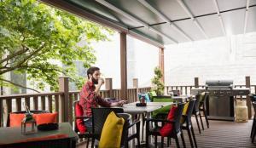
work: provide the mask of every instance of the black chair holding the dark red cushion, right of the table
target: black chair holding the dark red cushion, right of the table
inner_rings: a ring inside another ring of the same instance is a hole
[[[159,123],[162,124],[162,126],[164,126],[164,123],[172,123],[173,125],[173,130],[170,134],[168,134],[167,139],[168,138],[172,138],[176,140],[176,145],[177,147],[180,147],[179,142],[178,142],[178,136],[181,135],[181,138],[183,140],[183,147],[185,147],[185,142],[184,142],[184,138],[183,138],[183,132],[181,130],[181,124],[180,124],[180,119],[182,117],[183,114],[183,107],[184,107],[184,103],[179,103],[177,105],[177,111],[174,114],[174,120],[163,120],[163,119],[147,119],[146,121],[146,147],[149,147],[149,136],[150,135],[154,135],[154,147],[157,147],[157,136],[160,136],[160,126]],[[154,123],[154,127],[149,126],[149,124],[153,124]],[[161,137],[161,147],[164,146],[164,137]]]

